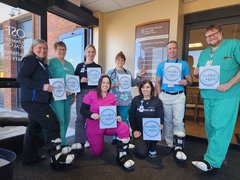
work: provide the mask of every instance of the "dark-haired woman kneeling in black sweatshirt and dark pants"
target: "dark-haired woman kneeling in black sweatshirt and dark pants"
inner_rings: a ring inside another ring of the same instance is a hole
[[[161,128],[164,121],[163,104],[154,96],[154,86],[150,80],[144,80],[139,86],[139,95],[134,97],[129,109],[129,121],[133,132],[135,153],[143,158],[156,157],[157,141],[143,140],[143,118],[160,118]],[[160,127],[159,127],[160,128]]]

